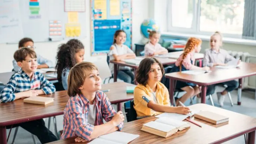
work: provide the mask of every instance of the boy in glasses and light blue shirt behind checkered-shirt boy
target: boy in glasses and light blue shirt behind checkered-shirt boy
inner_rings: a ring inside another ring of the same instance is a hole
[[[31,50],[34,51],[34,41],[31,39],[31,38],[23,38],[19,41],[19,49],[21,47],[28,47],[28,48],[31,48]],[[40,56],[39,54],[37,54],[37,63],[39,64],[37,66],[37,68],[49,68],[49,67],[54,67],[52,61]],[[14,59],[12,61],[12,64],[13,64],[13,70],[15,72],[18,72],[21,70],[21,68],[18,66],[17,64],[17,61]]]

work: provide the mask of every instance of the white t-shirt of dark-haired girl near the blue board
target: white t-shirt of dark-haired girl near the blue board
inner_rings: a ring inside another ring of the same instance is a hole
[[[113,57],[113,54],[116,55],[123,55],[123,54],[127,54],[127,53],[134,53],[133,50],[131,50],[128,46],[126,45],[122,45],[121,47],[117,44],[113,44],[111,45],[111,47],[114,47],[113,50],[110,50],[108,55],[109,55],[109,60],[114,60],[115,58]],[[114,64],[113,63],[109,63],[109,68],[111,71],[111,74],[114,73]],[[119,70],[129,70],[130,67],[127,66],[119,66]]]

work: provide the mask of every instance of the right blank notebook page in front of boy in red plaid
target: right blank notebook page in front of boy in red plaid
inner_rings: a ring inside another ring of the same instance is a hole
[[[115,131],[115,132],[109,133],[107,135],[102,135],[99,138],[107,139],[107,140],[110,140],[110,141],[113,141],[116,143],[127,144],[139,136],[140,135],[133,135],[133,134],[126,133],[126,132]]]

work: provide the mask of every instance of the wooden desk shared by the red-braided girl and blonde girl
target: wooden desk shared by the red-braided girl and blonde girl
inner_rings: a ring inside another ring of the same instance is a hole
[[[212,67],[211,71],[198,75],[184,74],[181,72],[165,74],[165,77],[170,79],[169,94],[171,103],[173,104],[174,80],[186,81],[202,86],[201,103],[205,103],[206,88],[208,85],[239,79],[237,104],[241,105],[242,78],[256,75],[256,64],[242,62],[238,68],[223,69]]]

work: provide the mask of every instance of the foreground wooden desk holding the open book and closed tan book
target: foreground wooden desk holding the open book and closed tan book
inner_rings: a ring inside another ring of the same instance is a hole
[[[221,109],[206,104],[195,104],[189,106],[191,109],[196,110],[209,110],[229,117],[228,123],[212,124],[204,120],[192,118],[193,121],[200,124],[202,127],[196,126],[190,122],[190,129],[178,132],[171,137],[163,138],[153,135],[148,132],[141,131],[143,124],[153,121],[156,118],[147,117],[139,120],[135,120],[129,123],[124,123],[123,132],[140,135],[130,143],[172,143],[172,144],[219,144],[226,142],[230,139],[242,136],[249,133],[249,144],[255,143],[255,130],[256,130],[256,118],[245,116],[240,113]],[[184,120],[186,121],[186,120]],[[77,144],[75,142],[76,137],[71,137],[64,140],[58,140],[50,144]],[[79,144],[86,144],[88,142],[80,142]]]

